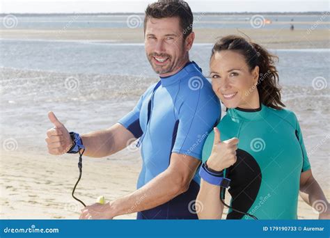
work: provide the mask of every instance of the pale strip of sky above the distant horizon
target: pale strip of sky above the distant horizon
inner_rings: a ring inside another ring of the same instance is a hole
[[[81,0],[0,0],[0,13],[143,13],[154,1],[81,1]],[[187,0],[193,12],[307,12],[329,11],[329,2],[322,0]]]

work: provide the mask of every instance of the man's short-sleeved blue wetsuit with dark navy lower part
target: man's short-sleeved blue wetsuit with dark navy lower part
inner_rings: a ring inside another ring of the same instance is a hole
[[[220,118],[220,109],[210,82],[194,62],[150,86],[134,109],[118,121],[140,138],[143,164],[137,189],[168,168],[172,152],[202,159],[203,144]],[[139,212],[137,219],[198,219],[191,207],[199,182],[196,173],[188,191]]]

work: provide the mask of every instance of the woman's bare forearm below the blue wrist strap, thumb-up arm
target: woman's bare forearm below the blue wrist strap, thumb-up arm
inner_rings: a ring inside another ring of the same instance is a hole
[[[197,201],[199,203],[198,219],[221,219],[223,205],[220,202],[220,187],[201,179]]]

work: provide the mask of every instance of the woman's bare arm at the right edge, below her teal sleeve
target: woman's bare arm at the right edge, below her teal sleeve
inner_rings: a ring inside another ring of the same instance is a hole
[[[301,173],[300,196],[308,205],[320,212],[319,219],[330,219],[329,202],[313,177],[311,169]]]

